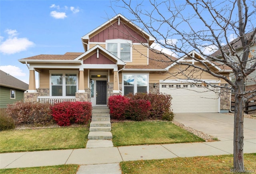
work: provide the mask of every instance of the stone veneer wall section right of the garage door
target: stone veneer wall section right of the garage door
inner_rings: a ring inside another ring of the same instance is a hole
[[[225,85],[225,84],[221,84]],[[220,113],[228,113],[231,107],[231,93],[228,89],[220,89]]]

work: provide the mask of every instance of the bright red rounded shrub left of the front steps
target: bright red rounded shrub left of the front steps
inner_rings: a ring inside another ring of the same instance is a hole
[[[70,126],[72,123],[86,124],[92,116],[92,103],[87,101],[55,103],[51,110],[53,119],[60,126]]]

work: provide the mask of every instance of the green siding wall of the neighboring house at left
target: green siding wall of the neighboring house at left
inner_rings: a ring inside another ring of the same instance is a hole
[[[15,99],[10,98],[10,89],[15,90]],[[0,108],[6,108],[7,104],[24,99],[24,91],[9,87],[0,86]]]

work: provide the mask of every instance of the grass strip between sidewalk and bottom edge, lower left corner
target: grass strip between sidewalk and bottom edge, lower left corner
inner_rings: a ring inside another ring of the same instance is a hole
[[[0,174],[76,174],[79,165],[0,169]]]

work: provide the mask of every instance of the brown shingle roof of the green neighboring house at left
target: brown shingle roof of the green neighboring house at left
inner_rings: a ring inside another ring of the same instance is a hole
[[[5,87],[10,87],[14,89],[20,89],[23,91],[28,90],[28,84],[23,81],[16,79],[10,74],[0,70],[0,85]]]

